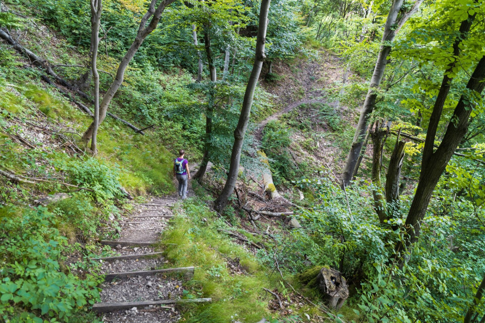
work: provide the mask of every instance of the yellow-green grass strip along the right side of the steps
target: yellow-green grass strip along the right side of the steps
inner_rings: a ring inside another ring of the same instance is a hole
[[[185,297],[212,298],[210,304],[184,307],[184,319],[256,322],[267,317],[266,302],[270,298],[261,298],[261,287],[271,289],[277,280],[269,278],[266,269],[250,253],[218,231],[227,225],[202,200],[185,200],[183,208],[175,211],[176,217],[162,233],[163,242],[175,243],[164,250],[165,257],[171,266],[197,266],[193,280],[187,283]],[[239,259],[247,274],[230,273],[227,264],[230,259]]]

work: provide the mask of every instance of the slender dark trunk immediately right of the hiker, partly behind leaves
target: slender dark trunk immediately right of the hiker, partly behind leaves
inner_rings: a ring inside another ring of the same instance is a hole
[[[210,73],[210,81],[215,82],[217,81],[217,73],[214,65],[214,59],[212,57],[212,49],[210,48],[210,34],[209,34],[209,27],[206,26],[206,30],[204,32],[204,42],[206,48],[206,55],[207,55],[207,63],[209,65],[209,73]],[[212,84],[214,85],[214,84]],[[202,161],[200,162],[199,169],[197,173],[195,173],[194,178],[200,180],[204,177],[207,169],[207,163],[210,160],[210,141],[212,138],[212,116],[214,113],[214,88],[211,87],[209,90],[209,103],[207,105],[206,110],[206,134],[205,134],[205,141],[204,141],[204,156],[202,157]]]

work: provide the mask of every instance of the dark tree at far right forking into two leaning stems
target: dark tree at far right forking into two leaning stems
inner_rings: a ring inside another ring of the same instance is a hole
[[[462,95],[454,108],[453,115],[446,127],[443,140],[436,150],[434,150],[438,123],[443,113],[443,106],[446,98],[450,92],[452,82],[451,75],[458,69],[456,67],[460,64],[458,62],[460,60],[459,53],[462,40],[467,37],[475,17],[475,13],[472,10],[470,10],[469,13],[472,13],[472,15],[469,15],[460,25],[458,36],[453,44],[453,61],[444,73],[441,87],[436,96],[435,106],[431,113],[423,148],[420,179],[405,222],[406,231],[404,245],[403,242],[399,242],[396,245],[396,251],[403,251],[404,247],[415,242],[419,236],[420,223],[426,214],[436,184],[445,170],[448,161],[450,161],[455,149],[465,137],[470,114],[476,106],[477,101],[480,100],[479,98],[485,87],[484,56],[481,57],[476,65],[473,74],[469,78],[466,89],[462,92]],[[483,55],[483,52],[480,54]]]

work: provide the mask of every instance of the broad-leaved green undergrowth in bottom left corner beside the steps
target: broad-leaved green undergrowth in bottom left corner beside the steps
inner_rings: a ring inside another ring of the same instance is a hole
[[[6,322],[76,322],[70,318],[99,297],[98,282],[95,273],[81,279],[62,269],[61,251],[68,246],[55,228],[55,215],[42,207],[15,213],[3,207],[0,212],[0,316]]]

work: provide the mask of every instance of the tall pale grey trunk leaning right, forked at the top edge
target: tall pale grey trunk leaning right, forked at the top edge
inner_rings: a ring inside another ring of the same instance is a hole
[[[372,111],[374,110],[375,99],[377,97],[376,90],[381,83],[382,76],[384,75],[384,71],[386,69],[386,64],[387,64],[387,57],[391,51],[392,41],[394,40],[394,37],[396,35],[396,32],[394,31],[394,27],[396,26],[396,24],[399,26],[403,26],[405,21],[414,12],[418,10],[422,0],[416,1],[415,5],[409,12],[410,14],[409,13],[405,14],[403,18],[401,18],[401,20],[397,22],[397,16],[401,10],[403,2],[404,0],[394,0],[389,9],[386,25],[384,26],[384,33],[382,35],[382,45],[379,51],[379,55],[377,56],[377,60],[375,62],[374,72],[372,74],[369,91],[367,92],[364,105],[362,106],[362,110],[360,111],[360,117],[357,123],[354,140],[349,150],[347,161],[345,162],[345,166],[342,173],[342,182],[345,184],[345,186],[348,186],[348,184],[352,179],[352,175],[354,174],[356,163],[359,158],[360,151],[362,149],[362,144],[364,142],[366,130],[369,125],[369,118],[371,116]],[[343,189],[343,185],[341,186]]]

